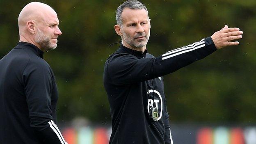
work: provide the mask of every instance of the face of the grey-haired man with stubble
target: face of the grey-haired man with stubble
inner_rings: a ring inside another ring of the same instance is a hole
[[[150,36],[150,19],[145,9],[123,9],[121,14],[123,44],[131,48],[146,48]]]

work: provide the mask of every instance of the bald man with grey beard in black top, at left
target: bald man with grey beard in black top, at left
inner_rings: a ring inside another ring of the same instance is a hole
[[[55,76],[43,60],[57,47],[58,25],[53,8],[40,2],[18,16],[20,41],[0,59],[0,144],[67,144],[55,124]]]

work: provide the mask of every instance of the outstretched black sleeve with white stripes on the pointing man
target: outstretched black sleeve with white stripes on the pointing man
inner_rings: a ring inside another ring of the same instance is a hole
[[[120,53],[107,60],[107,73],[115,85],[150,80],[177,71],[215,50],[213,40],[208,37],[159,57],[138,59],[134,55]]]

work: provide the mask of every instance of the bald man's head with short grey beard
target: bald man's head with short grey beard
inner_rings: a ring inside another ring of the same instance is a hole
[[[18,16],[20,41],[32,43],[41,50],[54,49],[49,48],[49,41],[55,39],[53,41],[57,46],[57,37],[61,34],[58,25],[59,20],[52,7],[41,2],[30,2]]]

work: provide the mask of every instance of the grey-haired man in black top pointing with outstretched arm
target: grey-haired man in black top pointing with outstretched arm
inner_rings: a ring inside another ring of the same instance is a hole
[[[188,46],[154,57],[147,53],[150,19],[146,7],[128,0],[117,8],[119,49],[104,67],[104,87],[112,117],[110,144],[173,144],[162,76],[202,59],[225,46],[238,45],[239,28],[215,32]]]

